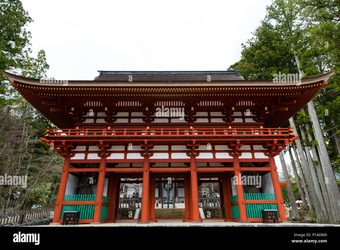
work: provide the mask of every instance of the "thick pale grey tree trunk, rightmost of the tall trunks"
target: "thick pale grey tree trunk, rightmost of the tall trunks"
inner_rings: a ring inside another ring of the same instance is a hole
[[[339,188],[334,176],[333,167],[329,160],[328,151],[326,148],[326,144],[323,138],[323,134],[321,131],[320,123],[317,117],[317,113],[315,112],[313,101],[308,102],[308,113],[310,116],[310,120],[314,126],[314,135],[318,140],[319,148],[320,148],[320,160],[322,170],[325,176],[325,184],[327,186],[329,199],[331,203],[331,207],[333,208],[333,216],[336,224],[340,224],[340,192]]]

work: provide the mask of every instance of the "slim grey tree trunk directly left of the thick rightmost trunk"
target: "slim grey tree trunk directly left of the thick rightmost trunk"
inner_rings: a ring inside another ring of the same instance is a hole
[[[314,161],[317,161],[315,166],[316,166],[317,171],[318,171],[318,177],[319,177],[318,179],[319,179],[319,182],[320,182],[323,198],[324,198],[325,205],[326,205],[326,208],[327,208],[327,213],[328,213],[328,216],[329,216],[329,222],[333,224],[333,223],[335,223],[334,216],[333,216],[333,208],[332,208],[332,205],[330,204],[330,199],[329,199],[329,194],[328,194],[328,190],[327,190],[325,179],[324,179],[324,174],[323,174],[323,171],[321,169],[321,164],[319,162],[319,158],[318,158],[316,148],[311,143],[313,141],[313,137],[312,137],[311,133],[309,132],[309,124],[306,123],[305,127],[306,127],[309,145],[310,145],[310,149],[311,149],[312,154],[313,154]]]

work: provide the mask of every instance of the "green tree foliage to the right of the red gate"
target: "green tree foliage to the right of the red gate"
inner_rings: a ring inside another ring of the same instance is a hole
[[[278,72],[312,77],[335,70],[313,100],[334,169],[340,166],[340,143],[336,145],[340,141],[339,10],[337,0],[273,0],[254,37],[242,44],[240,61],[229,67],[240,70],[246,80],[269,80]],[[298,112],[294,120],[303,127],[310,123],[307,109]],[[318,145],[316,138],[303,143]]]

